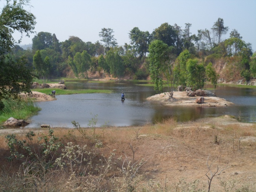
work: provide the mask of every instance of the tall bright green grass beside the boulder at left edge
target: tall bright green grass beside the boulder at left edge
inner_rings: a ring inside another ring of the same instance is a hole
[[[10,117],[27,119],[38,113],[41,109],[31,99],[3,99],[5,107],[0,111],[0,122],[5,122]]]

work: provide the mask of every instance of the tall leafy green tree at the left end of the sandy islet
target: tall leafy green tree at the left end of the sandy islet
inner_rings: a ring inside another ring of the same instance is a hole
[[[154,90],[163,92],[163,80],[166,79],[168,85],[169,98],[173,96],[173,64],[171,59],[172,47],[160,40],[154,40],[149,46],[149,71],[150,77],[154,82]],[[169,89],[169,82],[171,89]]]

